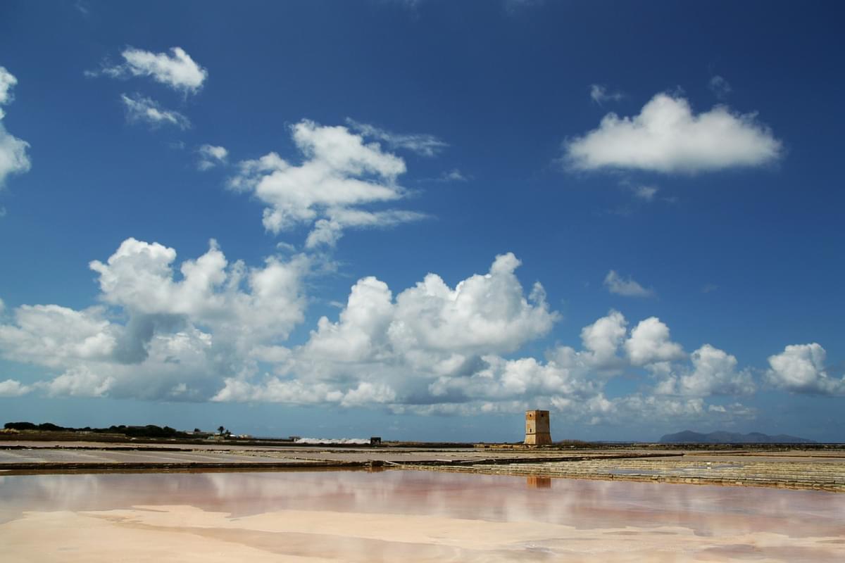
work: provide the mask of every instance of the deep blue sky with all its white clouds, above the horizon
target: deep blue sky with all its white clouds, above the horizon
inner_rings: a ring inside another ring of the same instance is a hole
[[[840,441],[838,3],[0,7],[0,418]]]

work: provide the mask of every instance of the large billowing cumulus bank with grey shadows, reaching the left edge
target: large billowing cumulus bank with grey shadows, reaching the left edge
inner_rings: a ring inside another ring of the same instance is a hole
[[[174,272],[176,252],[127,239],[93,261],[103,306],[19,306],[0,323],[0,355],[60,371],[51,395],[206,400],[226,376],[281,360],[278,344],[303,322],[310,260],[228,263],[214,241]],[[10,384],[11,385],[11,384]]]

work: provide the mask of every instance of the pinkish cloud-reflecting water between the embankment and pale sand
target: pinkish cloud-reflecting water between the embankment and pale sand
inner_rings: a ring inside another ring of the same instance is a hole
[[[839,548],[831,543],[845,544],[845,495],[820,491],[417,471],[0,477],[0,524],[24,512],[155,505],[232,517],[305,510],[547,522],[581,530],[681,527],[714,544],[743,533],[825,537],[833,550]],[[759,557],[744,554],[744,547],[730,545],[717,560]]]

